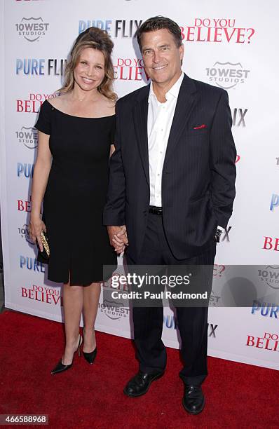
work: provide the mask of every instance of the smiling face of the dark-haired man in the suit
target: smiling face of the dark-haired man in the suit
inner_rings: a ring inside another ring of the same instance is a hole
[[[144,67],[155,83],[172,86],[177,81],[181,74],[183,54],[183,44],[177,48],[174,36],[168,29],[163,28],[142,34]]]

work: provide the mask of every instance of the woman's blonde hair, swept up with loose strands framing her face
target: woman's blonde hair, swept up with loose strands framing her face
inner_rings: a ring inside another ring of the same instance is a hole
[[[81,57],[81,51],[86,48],[93,48],[100,50],[104,54],[104,79],[97,91],[109,98],[109,100],[116,101],[117,95],[112,89],[114,81],[114,67],[111,61],[111,52],[114,43],[111,41],[109,34],[104,30],[97,27],[89,27],[85,32],[82,32],[74,42],[74,46],[70,53],[69,61],[65,68],[64,85],[58,92],[67,93],[74,88],[74,69]]]

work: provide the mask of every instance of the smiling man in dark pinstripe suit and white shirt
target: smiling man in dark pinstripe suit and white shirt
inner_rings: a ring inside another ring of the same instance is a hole
[[[236,148],[226,91],[182,72],[179,26],[161,16],[137,31],[151,84],[116,104],[116,151],[104,207],[111,245],[128,264],[213,265],[216,241],[231,216]],[[127,232],[126,232],[127,229]],[[212,276],[211,276],[212,282]],[[183,405],[203,410],[207,308],[178,307]],[[163,308],[133,308],[140,371],[124,393],[136,397],[163,375]]]

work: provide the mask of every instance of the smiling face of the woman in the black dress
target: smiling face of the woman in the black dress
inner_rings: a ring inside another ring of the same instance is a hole
[[[82,90],[96,89],[104,79],[104,54],[97,49],[84,48],[74,69],[74,81]]]

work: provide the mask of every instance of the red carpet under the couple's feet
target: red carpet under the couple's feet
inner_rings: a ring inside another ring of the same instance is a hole
[[[166,374],[147,395],[129,398],[123,387],[137,371],[130,340],[97,332],[92,367],[76,355],[72,369],[51,376],[62,325],[12,311],[0,322],[0,414],[48,414],[51,428],[279,428],[275,370],[210,357],[207,403],[191,416],[181,404],[178,350],[168,348]]]

